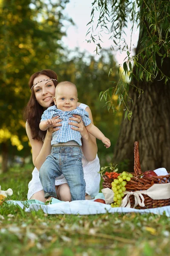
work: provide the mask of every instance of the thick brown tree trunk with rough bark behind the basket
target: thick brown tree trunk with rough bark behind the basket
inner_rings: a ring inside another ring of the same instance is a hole
[[[157,61],[159,63],[159,57]],[[163,72],[170,76],[170,58],[163,65]],[[129,160],[130,172],[133,172],[134,166],[135,141],[139,142],[142,172],[160,167],[170,172],[170,82],[165,85],[164,79],[158,80],[156,77],[153,83],[133,81],[133,84],[144,90],[139,98],[135,90],[130,90],[133,116],[131,122],[123,119],[114,152],[114,163]]]

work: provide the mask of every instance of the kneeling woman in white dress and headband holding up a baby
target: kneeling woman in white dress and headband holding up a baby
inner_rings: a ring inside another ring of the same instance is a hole
[[[54,105],[53,97],[55,96],[55,87],[58,84],[57,80],[57,75],[52,70],[42,70],[34,73],[29,79],[32,95],[24,110],[26,133],[32,146],[32,160],[35,166],[32,172],[32,180],[29,182],[28,199],[37,199],[42,202],[45,202],[45,198],[38,170],[51,152],[52,133],[60,129],[62,120],[57,119],[58,116],[54,117],[56,125],[53,128],[49,128],[47,132],[40,131],[39,123],[43,111]],[[86,109],[89,113],[89,118],[93,122],[90,108],[80,102],[78,102],[77,106]],[[84,123],[81,122],[81,116],[74,115],[70,120],[76,121],[75,127],[72,127],[72,129],[81,133],[86,199],[92,199],[98,194],[100,185],[100,174],[98,173],[100,164],[97,156],[96,140],[95,137],[87,132]],[[72,125],[71,122],[70,125]],[[69,186],[63,175],[55,180],[55,187],[59,200],[71,201]]]

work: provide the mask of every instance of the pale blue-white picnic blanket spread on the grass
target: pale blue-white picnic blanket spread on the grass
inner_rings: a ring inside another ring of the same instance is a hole
[[[98,193],[95,199],[104,199],[102,193]],[[162,215],[165,213],[167,217],[170,217],[170,206],[158,207],[152,209],[133,209],[125,207],[112,208],[109,204],[102,204],[94,202],[94,200],[82,200],[82,201],[72,201],[63,202],[58,199],[52,198],[52,204],[45,205],[43,202],[38,200],[28,200],[28,201],[6,201],[8,204],[19,205],[22,209],[24,208],[26,212],[32,210],[38,211],[42,209],[44,213],[47,214],[74,214],[74,215],[92,215],[92,214],[104,214],[104,213],[127,213],[127,212],[139,212],[139,213],[154,213]]]

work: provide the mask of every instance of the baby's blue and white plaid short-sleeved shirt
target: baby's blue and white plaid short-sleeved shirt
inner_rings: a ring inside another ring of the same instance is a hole
[[[67,142],[70,140],[75,140],[79,145],[82,145],[80,132],[72,130],[71,125],[68,124],[69,122],[76,122],[73,120],[69,120],[69,117],[73,117],[73,114],[81,116],[85,126],[91,123],[91,120],[89,119],[89,113],[85,111],[83,108],[77,107],[72,111],[63,111],[58,109],[54,105],[44,111],[43,115],[41,116],[41,121],[52,119],[52,117],[54,116],[59,116],[58,119],[63,119],[62,126],[60,127],[60,129],[58,131],[53,132],[52,134],[51,145]]]

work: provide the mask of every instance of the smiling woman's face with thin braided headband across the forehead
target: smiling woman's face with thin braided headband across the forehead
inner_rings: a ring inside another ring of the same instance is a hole
[[[33,84],[36,84],[38,81],[49,79],[48,76],[40,75],[37,76]],[[33,90],[35,92],[35,97],[37,99],[37,102],[44,108],[49,108],[53,105],[53,98],[55,96],[55,85],[52,80],[49,81],[42,81],[38,84],[36,84],[33,87]]]

